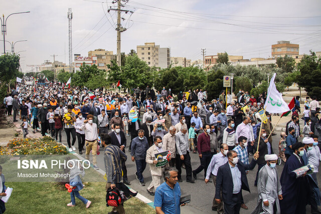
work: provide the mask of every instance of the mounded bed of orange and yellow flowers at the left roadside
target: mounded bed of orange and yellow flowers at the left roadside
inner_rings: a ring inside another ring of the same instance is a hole
[[[51,137],[41,138],[14,138],[7,147],[0,147],[2,155],[24,155],[24,154],[68,154],[65,146]]]

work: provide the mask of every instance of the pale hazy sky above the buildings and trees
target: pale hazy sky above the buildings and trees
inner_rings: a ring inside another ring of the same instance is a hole
[[[122,2],[125,4],[125,2]],[[7,21],[7,41],[28,40],[15,45],[26,65],[40,65],[45,60],[68,64],[68,8],[72,8],[73,54],[88,56],[88,51],[102,48],[116,53],[116,16],[111,0],[1,0],[0,14]],[[229,55],[271,56],[271,45],[286,40],[299,44],[299,53],[321,51],[321,1],[254,0],[162,0],[128,1],[122,13],[121,52],[136,50],[137,45],[155,42],[170,47],[171,56],[202,59],[226,51]],[[106,14],[105,14],[106,13]],[[131,15],[131,16],[130,16]],[[3,37],[1,37],[3,40]],[[3,53],[3,42],[0,42]],[[6,43],[6,50],[11,46]]]

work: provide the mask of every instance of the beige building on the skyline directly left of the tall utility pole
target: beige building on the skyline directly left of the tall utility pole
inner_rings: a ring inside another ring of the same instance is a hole
[[[88,52],[88,57],[97,57],[98,69],[107,71],[107,65],[111,64],[111,60],[116,60],[116,55],[112,51],[106,51],[105,49],[95,49]]]

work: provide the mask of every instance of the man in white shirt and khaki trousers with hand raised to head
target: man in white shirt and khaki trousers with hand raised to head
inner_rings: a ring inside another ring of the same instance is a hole
[[[99,169],[97,166],[96,153],[97,153],[97,124],[93,123],[94,116],[87,115],[87,120],[84,120],[80,130],[85,130],[85,144],[86,144],[86,159],[89,160],[90,150],[92,150],[92,161],[94,169]]]

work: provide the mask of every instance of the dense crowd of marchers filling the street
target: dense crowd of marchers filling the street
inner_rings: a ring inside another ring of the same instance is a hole
[[[181,195],[182,168],[186,170],[187,182],[195,183],[203,171],[205,182],[214,183],[212,210],[239,213],[240,208],[248,209],[242,189],[249,191],[246,176],[256,164],[254,185],[259,195],[252,213],[305,213],[306,204],[311,205],[312,213],[321,213],[317,209],[320,193],[316,179],[321,161],[318,102],[316,98],[311,102],[306,98],[305,126],[301,129],[298,123],[301,109],[296,98],[286,132],[281,133],[279,142],[272,142],[271,136],[275,135],[271,123],[273,115],[266,112],[267,122],[263,123],[259,113],[265,99],[266,93],[255,98],[242,90],[236,97],[222,91],[217,99],[208,100],[207,92],[201,89],[174,96],[171,89],[165,87],[161,92],[147,86],[144,90],[137,88],[131,93],[120,94],[100,89],[68,89],[58,83],[32,87],[21,83],[6,96],[4,103],[8,115],[14,111],[15,122],[17,115],[22,120],[24,137],[28,135],[30,124],[33,132],[39,131],[41,126],[43,136],[48,132],[58,142],[62,140],[63,131],[68,150],[75,151],[77,136],[79,153],[85,150],[86,159],[89,159],[92,151],[95,169],[98,169],[96,153],[101,137],[108,187],[114,187],[121,178],[123,183],[130,184],[124,159],[119,166],[109,168],[112,160],[107,158],[113,155],[118,158],[113,161],[120,162],[119,154],[125,155],[127,147],[136,165],[136,178],[142,186],[145,185],[142,173],[146,165],[149,166],[152,181],[147,192],[154,195],[157,213],[180,213],[180,202],[175,198]],[[129,118],[130,110],[142,119],[133,122]],[[130,136],[129,146],[126,136]],[[277,143],[277,152],[273,151],[272,143]],[[170,161],[166,166],[156,167],[155,154],[163,151],[170,152]],[[190,153],[198,154],[199,166],[192,166]],[[285,165],[279,177],[275,167],[282,161]],[[292,172],[308,164],[314,166],[312,174],[296,177]],[[119,167],[123,175],[111,176]],[[117,212],[124,213],[122,205],[111,213]]]

